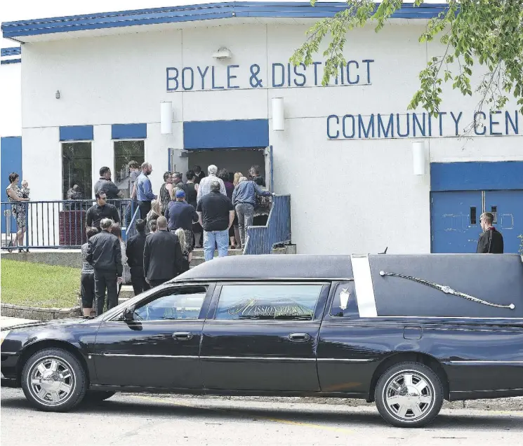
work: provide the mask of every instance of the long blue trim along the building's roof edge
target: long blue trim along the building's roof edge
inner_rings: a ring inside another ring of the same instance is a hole
[[[56,32],[84,31],[128,27],[135,25],[157,25],[159,23],[192,22],[219,18],[327,18],[347,8],[345,3],[300,2],[253,2],[229,1],[201,5],[175,6],[171,8],[149,8],[136,11],[93,13],[66,17],[19,20],[1,25],[4,38],[37,36]],[[402,4],[392,18],[430,19],[447,8],[446,4]]]

